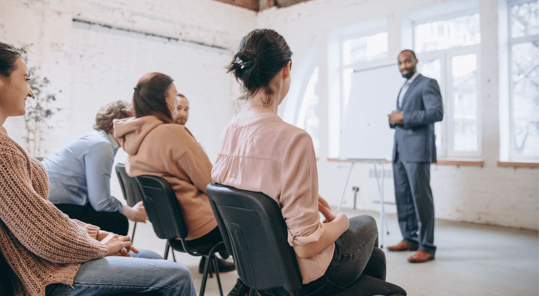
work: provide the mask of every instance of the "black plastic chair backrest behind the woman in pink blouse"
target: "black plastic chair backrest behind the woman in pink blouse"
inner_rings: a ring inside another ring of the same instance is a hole
[[[217,183],[206,188],[241,281],[257,290],[301,290],[298,262],[277,202],[262,192]]]

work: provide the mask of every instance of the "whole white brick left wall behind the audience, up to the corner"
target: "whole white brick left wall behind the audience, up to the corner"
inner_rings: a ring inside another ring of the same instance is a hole
[[[55,106],[63,110],[51,121],[54,129],[45,132],[43,146],[49,152],[91,131],[99,107],[119,99],[131,101],[143,74],[163,72],[189,98],[187,126],[215,160],[219,134],[238,96],[236,82],[224,67],[241,37],[255,27],[255,16],[213,0],[6,0],[0,3],[0,39],[17,46],[33,43],[29,66],[42,66],[42,76],[51,80],[50,91],[58,98]],[[189,42],[90,26],[73,18]],[[23,143],[22,118],[8,119],[5,127]]]

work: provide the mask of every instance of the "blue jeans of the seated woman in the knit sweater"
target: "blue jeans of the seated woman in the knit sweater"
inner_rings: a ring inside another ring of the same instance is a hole
[[[82,263],[73,285],[47,285],[46,296],[115,295],[127,292],[158,292],[162,295],[196,296],[189,270],[163,260],[157,253],[130,252],[135,258],[107,256]]]

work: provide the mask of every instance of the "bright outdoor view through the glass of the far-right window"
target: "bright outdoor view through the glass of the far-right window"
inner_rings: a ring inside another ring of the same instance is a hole
[[[509,2],[510,158],[539,156],[539,1]]]

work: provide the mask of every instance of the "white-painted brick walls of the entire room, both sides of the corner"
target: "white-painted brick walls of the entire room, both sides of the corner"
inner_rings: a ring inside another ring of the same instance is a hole
[[[255,27],[271,27],[287,39],[299,61],[313,35],[319,53],[327,52],[328,31],[337,27],[386,17],[389,56],[400,50],[400,15],[446,1],[439,0],[312,0],[288,8],[271,8],[260,13],[213,0],[30,0],[0,1],[0,40],[16,45],[34,43],[30,66],[42,66],[42,76],[52,82],[57,106],[63,111],[51,121],[55,126],[45,134],[43,146],[49,151],[63,147],[92,129],[95,112],[110,101],[132,98],[136,81],[147,72],[163,72],[175,79],[179,92],[190,99],[187,126],[203,144],[210,159],[216,157],[220,132],[233,115],[232,101],[238,85],[224,66],[240,38]],[[482,80],[496,77],[496,0],[480,0],[483,38]],[[193,43],[164,42],[137,33],[89,29],[72,19],[115,27],[185,38],[229,50],[212,49]],[[486,26],[492,26],[488,28]],[[321,71],[327,71],[327,57],[319,57]],[[293,68],[293,71],[295,68]],[[325,79],[325,80],[324,80]],[[321,106],[328,102],[328,76],[321,73]],[[432,189],[438,218],[537,229],[539,224],[539,170],[496,166],[499,158],[497,86],[481,84],[483,96],[483,151],[485,167],[432,166]],[[281,104],[282,114],[286,104]],[[328,138],[328,116],[321,107],[321,139]],[[10,118],[4,125],[13,139],[22,143],[21,118]],[[342,194],[346,163],[326,161],[327,146],[322,144],[318,162],[320,192],[331,204]],[[125,155],[121,154],[117,159]],[[389,166],[388,166],[389,167]],[[349,184],[361,187],[357,205],[378,209],[376,182],[368,178],[371,166],[359,164]],[[388,169],[386,167],[386,169]],[[385,179],[388,199],[394,199],[392,179]],[[113,195],[121,197],[115,181]],[[352,206],[353,194],[347,189],[345,206]],[[388,206],[395,211],[395,206]]]

